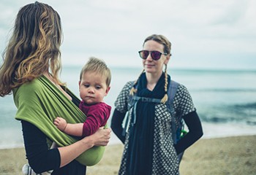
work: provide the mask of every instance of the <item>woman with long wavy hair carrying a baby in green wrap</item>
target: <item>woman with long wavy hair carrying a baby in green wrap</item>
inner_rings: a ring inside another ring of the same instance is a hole
[[[61,18],[48,4],[36,1],[22,7],[3,54],[0,96],[14,96],[26,158],[37,174],[53,170],[52,174],[84,175],[86,165],[94,164],[89,158],[94,153],[86,158],[80,155],[107,145],[110,129],[99,128],[91,136],[74,139],[53,125],[57,116],[69,116],[70,123],[85,120],[75,96],[59,79],[61,35]],[[72,112],[80,120],[72,120]],[[50,149],[53,141],[59,147]]]

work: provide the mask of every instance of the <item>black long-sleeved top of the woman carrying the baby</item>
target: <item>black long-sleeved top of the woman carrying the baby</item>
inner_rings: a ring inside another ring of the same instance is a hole
[[[26,149],[26,158],[29,160],[29,166],[37,173],[54,170],[53,175],[84,175],[86,166],[73,160],[62,168],[59,149],[48,149],[46,136],[36,126],[26,121],[21,121],[24,145]]]

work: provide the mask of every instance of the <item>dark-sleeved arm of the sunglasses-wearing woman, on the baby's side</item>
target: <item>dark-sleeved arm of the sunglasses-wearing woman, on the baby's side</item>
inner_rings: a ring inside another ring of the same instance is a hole
[[[116,134],[118,139],[121,140],[121,142],[124,144],[125,136],[122,134],[123,128],[122,128],[122,122],[124,120],[125,113],[118,112],[118,110],[115,109],[113,112],[112,120],[111,120],[111,128],[113,129],[113,132]]]

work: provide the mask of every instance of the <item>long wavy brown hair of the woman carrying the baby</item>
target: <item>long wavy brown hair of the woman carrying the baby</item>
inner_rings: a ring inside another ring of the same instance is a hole
[[[45,71],[59,84],[61,71],[61,18],[48,4],[35,2],[22,7],[3,52],[0,96],[12,93]]]

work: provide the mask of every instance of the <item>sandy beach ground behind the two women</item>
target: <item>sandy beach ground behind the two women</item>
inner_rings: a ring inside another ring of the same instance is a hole
[[[256,136],[233,136],[200,139],[186,150],[181,161],[181,175],[256,174]],[[87,175],[118,174],[123,146],[113,144],[96,165],[87,168]],[[0,149],[0,174],[19,175],[25,158],[24,148]]]

